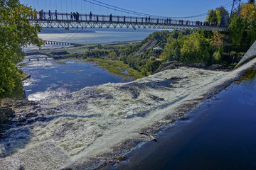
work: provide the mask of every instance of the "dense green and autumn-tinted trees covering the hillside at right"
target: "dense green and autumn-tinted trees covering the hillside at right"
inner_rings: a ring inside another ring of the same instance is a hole
[[[224,7],[209,10],[206,22],[220,23],[223,13],[228,16],[228,11]],[[235,61],[234,58],[243,55],[255,40],[256,6],[254,1],[250,1],[242,4],[240,16],[235,15],[228,33],[163,30],[154,32],[142,42],[127,47],[98,45],[97,50],[89,50],[82,54],[82,57],[109,57],[112,60],[120,60],[147,76],[153,74],[163,62],[170,61],[235,65],[232,63]],[[159,56],[160,60],[151,60],[154,57],[153,47],[144,47],[150,44],[149,42],[154,42],[154,47],[163,48]]]

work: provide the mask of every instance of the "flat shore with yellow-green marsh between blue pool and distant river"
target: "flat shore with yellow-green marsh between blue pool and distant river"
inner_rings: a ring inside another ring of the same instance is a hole
[[[44,50],[30,50],[26,52],[26,59],[31,58],[33,55],[44,55],[46,57],[53,57],[54,60],[60,59],[70,59],[70,60],[84,60],[90,64],[95,64],[95,67],[102,67],[106,69],[111,74],[118,77],[122,77],[127,80],[134,80],[144,77],[144,75],[138,70],[132,69],[128,64],[124,62],[112,59],[108,55],[102,56],[92,56],[93,50],[102,51],[102,49],[110,52],[112,49],[117,50],[120,48],[129,47],[129,45],[135,45],[141,41],[124,41],[124,42],[109,42],[100,45],[90,44],[90,45],[80,45],[73,47],[65,47],[61,49],[44,49]],[[87,57],[84,55],[85,52],[90,53]],[[104,52],[103,52],[104,53]],[[97,53],[98,54],[98,53]],[[36,58],[36,57],[35,57]]]

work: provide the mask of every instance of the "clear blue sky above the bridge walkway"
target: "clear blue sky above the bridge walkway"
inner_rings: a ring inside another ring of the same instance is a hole
[[[124,15],[129,16],[130,13],[123,13],[110,8],[103,8],[90,2],[93,0],[20,0],[21,4],[28,4],[40,11],[55,11],[70,13],[78,11],[79,13],[92,13],[108,15]],[[89,2],[87,2],[89,1]],[[215,9],[219,6],[228,4],[228,11],[231,11],[233,0],[97,0],[105,4],[117,6],[119,8],[129,9],[140,13],[149,13],[156,16],[181,17],[196,16],[201,13],[207,13],[209,9]],[[247,0],[242,0],[247,2]],[[97,3],[97,2],[96,2]],[[97,3],[98,4],[98,3]],[[206,16],[204,16],[206,17]],[[198,17],[198,20],[203,17]]]

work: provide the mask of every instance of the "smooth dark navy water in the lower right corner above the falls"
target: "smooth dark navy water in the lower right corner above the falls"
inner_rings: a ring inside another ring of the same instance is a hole
[[[255,70],[116,169],[256,169]]]

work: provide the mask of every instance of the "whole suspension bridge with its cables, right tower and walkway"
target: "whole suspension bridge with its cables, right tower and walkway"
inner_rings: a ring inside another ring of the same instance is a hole
[[[111,6],[109,4],[102,3],[100,1],[83,0],[91,3],[92,5],[98,5],[102,8],[110,8],[117,11],[124,11],[127,13],[133,13],[134,16],[124,15],[102,15],[92,13],[59,13],[55,11],[38,11],[36,18],[28,18],[32,25],[38,24],[42,28],[146,28],[146,29],[169,29],[169,30],[218,30],[226,32],[228,31],[228,13],[223,13],[222,21],[220,23],[208,23],[206,21],[191,21],[191,18],[197,16],[188,17],[164,17],[154,16],[146,13],[139,13],[136,11],[129,11],[117,6]],[[232,5],[230,18],[234,16],[234,13],[239,14],[241,0],[233,0],[229,3]],[[233,3],[232,3],[233,2]],[[203,13],[208,15],[208,13]],[[198,15],[198,16],[202,16]]]

